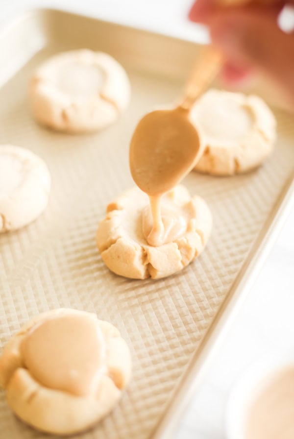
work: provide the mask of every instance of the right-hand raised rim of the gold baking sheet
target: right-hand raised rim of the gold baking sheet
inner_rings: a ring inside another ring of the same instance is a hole
[[[273,207],[267,225],[260,231],[256,242],[248,253],[243,267],[239,271],[233,285],[221,303],[221,307],[208,328],[198,349],[189,361],[186,371],[173,391],[169,405],[155,426],[152,439],[170,439],[175,432],[180,417],[193,399],[193,393],[200,378],[204,375],[204,367],[209,366],[217,354],[230,324],[249,293],[252,283],[258,276],[270,250],[275,243],[283,224],[294,207],[294,171],[285,184],[282,195]],[[198,371],[197,371],[198,370]],[[183,386],[188,390],[184,392]],[[181,394],[183,393],[183,394]],[[174,402],[174,396],[176,402]]]

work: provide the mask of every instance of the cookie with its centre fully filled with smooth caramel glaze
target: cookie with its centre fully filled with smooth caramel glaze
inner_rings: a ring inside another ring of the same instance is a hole
[[[107,415],[130,378],[127,344],[95,314],[59,309],[27,323],[4,347],[0,384],[38,430],[67,435]]]

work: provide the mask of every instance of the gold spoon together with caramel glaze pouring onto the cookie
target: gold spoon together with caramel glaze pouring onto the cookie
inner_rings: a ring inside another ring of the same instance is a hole
[[[177,212],[165,215],[162,195],[170,191],[195,166],[203,153],[190,110],[196,99],[219,72],[221,55],[209,48],[196,65],[180,105],[171,110],[148,113],[138,123],[130,143],[129,164],[132,177],[149,196],[150,209],[143,213],[143,230],[149,245],[173,241],[185,232]],[[148,218],[152,219],[151,224]]]

